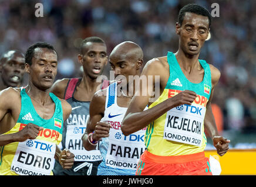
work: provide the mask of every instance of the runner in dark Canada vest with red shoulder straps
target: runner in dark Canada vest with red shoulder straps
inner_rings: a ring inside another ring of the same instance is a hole
[[[102,160],[99,150],[86,151],[83,148],[81,137],[89,118],[92,96],[97,89],[104,86],[96,79],[107,64],[105,41],[99,37],[87,37],[80,45],[78,61],[83,66],[83,77],[61,79],[56,81],[52,88],[55,95],[65,99],[72,106],[72,112],[63,126],[60,148],[68,148],[75,154],[75,163],[70,169],[62,169],[59,162],[55,162],[54,175],[96,175]]]

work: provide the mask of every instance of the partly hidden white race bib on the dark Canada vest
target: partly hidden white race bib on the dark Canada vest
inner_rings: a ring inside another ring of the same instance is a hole
[[[86,117],[85,124],[89,119],[89,115]],[[100,161],[102,160],[102,155],[100,151],[92,150],[87,151],[83,147],[83,141],[81,139],[83,133],[85,133],[86,125],[81,125],[77,123],[74,125],[67,125],[67,133],[66,133],[66,148],[71,151],[75,155],[75,161]]]

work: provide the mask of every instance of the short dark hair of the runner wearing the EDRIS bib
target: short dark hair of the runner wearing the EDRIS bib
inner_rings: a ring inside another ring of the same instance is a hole
[[[38,41],[35,44],[33,44],[32,46],[30,46],[28,48],[28,50],[26,50],[26,53],[25,53],[25,63],[27,63],[29,65],[32,65],[32,58],[35,55],[35,49],[36,48],[46,48],[46,49],[49,49],[49,50],[53,50],[56,53],[56,50],[54,49],[54,47],[51,44],[46,43],[46,42],[42,42],[42,41]]]

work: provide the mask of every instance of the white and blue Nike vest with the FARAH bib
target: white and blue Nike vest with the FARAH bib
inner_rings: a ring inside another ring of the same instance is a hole
[[[127,108],[117,105],[117,84],[111,84],[107,89],[105,114],[101,122],[112,125],[109,137],[100,141],[100,152],[103,160],[99,165],[97,175],[135,175],[140,155],[146,150],[144,134],[146,128],[136,133],[124,136],[121,124]]]

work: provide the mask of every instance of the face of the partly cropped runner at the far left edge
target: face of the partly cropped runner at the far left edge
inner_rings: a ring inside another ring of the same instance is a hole
[[[14,53],[2,65],[2,80],[5,86],[16,87],[22,82],[23,74],[25,72],[25,58],[19,54]]]

